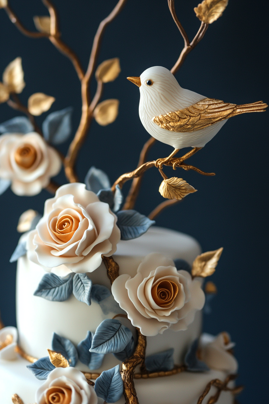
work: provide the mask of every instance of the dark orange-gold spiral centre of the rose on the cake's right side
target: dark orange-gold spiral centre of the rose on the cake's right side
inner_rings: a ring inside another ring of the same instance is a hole
[[[151,295],[154,302],[160,306],[169,306],[177,296],[178,286],[171,280],[161,280],[151,289]]]

